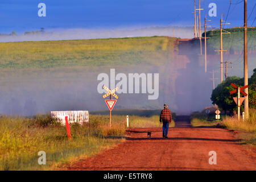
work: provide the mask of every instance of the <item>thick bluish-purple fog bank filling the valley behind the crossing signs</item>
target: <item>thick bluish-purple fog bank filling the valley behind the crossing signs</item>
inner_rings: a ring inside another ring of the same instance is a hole
[[[142,34],[142,32],[139,33],[140,31],[138,30],[137,34],[133,35],[155,35],[154,32],[148,31],[148,34]],[[98,36],[103,37],[106,34],[102,33]],[[227,57],[228,55],[224,55],[224,60]],[[229,76],[242,77],[243,63],[240,58],[241,55],[229,55],[229,59],[238,60],[233,64],[234,69],[230,70]],[[159,97],[157,100],[148,100],[148,94],[117,93],[119,98],[114,109],[162,109],[163,104],[167,103],[170,105],[170,109],[177,114],[190,114],[211,106],[210,96],[213,82],[210,78],[213,75],[209,71],[218,71],[215,73],[215,78],[218,78],[215,82],[215,86],[217,86],[220,83],[220,55],[208,55],[207,73],[204,70],[204,52],[203,55],[200,55],[199,42],[193,44],[180,42],[179,51],[172,56],[167,55],[166,60],[166,64],[157,66],[110,65],[109,67],[94,68],[44,68],[34,71],[18,69],[1,72],[0,113],[34,115],[48,113],[51,110],[107,110],[108,107],[102,98],[103,94],[97,92],[97,86],[100,83],[97,77],[100,73],[110,76],[111,68],[115,68],[116,73],[125,75],[129,73],[159,73]],[[250,77],[255,68],[255,55],[249,55],[248,63]]]

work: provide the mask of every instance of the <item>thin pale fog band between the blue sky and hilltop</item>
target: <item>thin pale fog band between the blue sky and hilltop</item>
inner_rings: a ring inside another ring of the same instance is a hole
[[[192,38],[192,27],[145,27],[145,28],[72,28],[24,32],[23,34],[0,34],[0,42],[22,42],[41,40],[74,40],[100,38],[126,38],[135,36],[174,36]]]

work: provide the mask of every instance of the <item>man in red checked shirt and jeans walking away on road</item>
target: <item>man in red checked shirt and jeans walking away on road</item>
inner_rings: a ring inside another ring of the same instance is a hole
[[[169,123],[172,122],[172,113],[171,110],[167,108],[168,105],[164,104],[164,109],[161,111],[160,114],[160,123],[163,122],[163,138],[168,138],[168,129]]]

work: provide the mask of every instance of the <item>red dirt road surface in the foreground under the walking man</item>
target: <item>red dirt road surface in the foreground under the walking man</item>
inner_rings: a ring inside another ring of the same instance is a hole
[[[126,142],[65,170],[256,170],[256,147],[239,144],[232,131],[190,127],[186,117],[175,124],[168,139],[162,128],[130,129]],[[217,164],[209,164],[209,151],[217,153]]]

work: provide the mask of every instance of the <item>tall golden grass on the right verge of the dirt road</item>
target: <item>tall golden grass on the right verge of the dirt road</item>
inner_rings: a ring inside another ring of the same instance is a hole
[[[223,119],[223,125],[230,130],[238,131],[237,137],[242,142],[256,146],[256,109],[250,109],[249,118],[245,121],[238,121],[236,117],[226,117]]]

